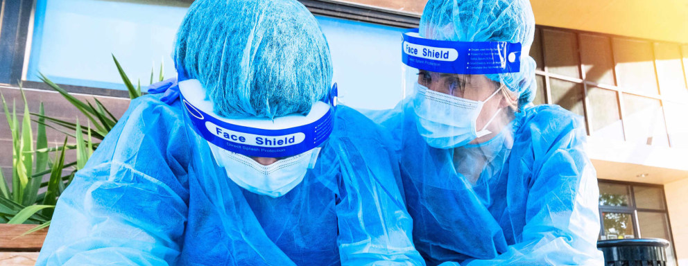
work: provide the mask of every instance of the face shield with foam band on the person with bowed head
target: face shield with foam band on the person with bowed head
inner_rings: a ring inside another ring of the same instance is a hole
[[[219,116],[198,80],[184,80],[178,85],[185,123],[207,141],[227,177],[261,195],[279,197],[300,184],[307,170],[315,166],[320,147],[334,127],[336,84],[307,115],[274,119]],[[264,165],[255,157],[277,161]]]

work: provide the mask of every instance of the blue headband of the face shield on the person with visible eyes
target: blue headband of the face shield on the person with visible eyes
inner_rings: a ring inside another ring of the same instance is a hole
[[[404,33],[402,62],[408,67],[465,75],[516,73],[521,44],[510,42],[453,42],[425,39],[418,28]]]

